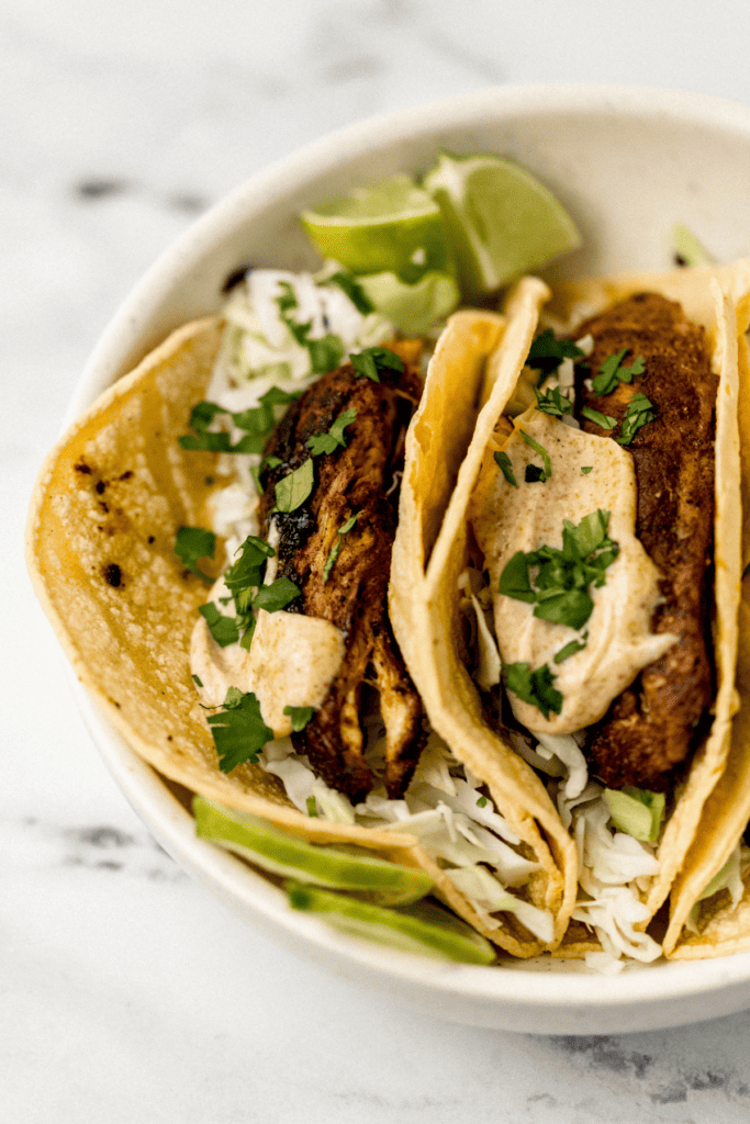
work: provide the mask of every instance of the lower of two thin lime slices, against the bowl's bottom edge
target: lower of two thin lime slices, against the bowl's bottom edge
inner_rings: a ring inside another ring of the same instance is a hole
[[[286,889],[295,909],[320,914],[327,924],[351,936],[460,963],[491,964],[495,960],[489,941],[430,901],[421,901],[408,909],[382,909],[342,894],[311,890],[295,882],[288,882]]]

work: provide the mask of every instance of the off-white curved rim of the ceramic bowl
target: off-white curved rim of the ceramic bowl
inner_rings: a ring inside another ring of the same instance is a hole
[[[179,288],[175,278],[188,274],[201,255],[213,244],[231,236],[233,229],[252,225],[254,214],[266,206],[269,197],[283,196],[290,184],[299,187],[332,171],[341,162],[342,152],[364,154],[372,147],[395,143],[407,135],[426,133],[436,126],[450,130],[482,114],[508,116],[514,112],[544,112],[552,117],[581,112],[662,118],[707,126],[750,140],[749,107],[679,90],[598,83],[488,87],[373,116],[336,129],[274,162],[229,191],[157,256],[101,333],[76,382],[63,428],[67,428],[106,386],[135,365],[143,354],[137,353],[143,325],[147,323],[150,310]],[[293,912],[283,891],[262,874],[234,855],[199,840],[192,831],[191,816],[159,774],[109,726],[72,671],[69,678],[99,752],[136,813],[166,850],[178,861],[186,859],[193,868],[193,877],[197,873],[195,868],[200,868],[206,876],[205,882],[218,887],[219,896],[241,898],[279,928],[302,937],[318,949],[344,957],[350,963],[371,968],[381,976],[405,984],[437,989],[449,1001],[460,995],[472,1001],[484,1000],[491,1005],[505,1001],[540,1010],[570,1007],[571,1004],[590,1012],[613,1006],[632,1008],[648,1005],[653,1008],[666,1000],[694,1000],[707,992],[750,982],[750,952],[699,961],[659,962],[647,970],[636,968],[618,976],[603,976],[584,968],[559,972],[530,970],[524,969],[523,961],[512,970],[498,971],[496,968],[421,958],[338,933],[316,917]],[[575,988],[571,979],[575,980]],[[712,1017],[712,1014],[697,1015],[683,1010],[679,1019],[649,1025],[671,1025],[677,1021]],[[588,1032],[587,1027],[580,1031]]]

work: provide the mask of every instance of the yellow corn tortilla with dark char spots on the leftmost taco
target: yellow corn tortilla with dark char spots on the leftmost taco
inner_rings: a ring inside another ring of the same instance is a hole
[[[505,328],[503,317],[489,319],[480,333],[482,362]],[[81,681],[133,750],[165,778],[308,841],[356,844],[419,867],[457,914],[486,932],[413,835],[310,818],[260,767],[244,764],[229,776],[218,769],[189,667],[207,586],[184,570],[173,547],[181,526],[209,525],[207,501],[228,483],[217,477],[217,454],[183,452],[178,444],[192,406],[205,398],[220,339],[222,324],[214,318],[175,332],[107,390],[49,454],[27,528],[39,600]],[[453,444],[432,480],[436,524],[475,420],[476,410],[461,419],[445,411]],[[220,542],[216,555],[223,556]],[[218,570],[207,560],[201,566]],[[501,940],[488,935],[512,954],[528,955],[539,945],[525,932],[516,926]]]

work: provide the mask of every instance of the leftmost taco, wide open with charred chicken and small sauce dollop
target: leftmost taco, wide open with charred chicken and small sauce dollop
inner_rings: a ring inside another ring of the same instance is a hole
[[[310,284],[270,283],[287,316],[290,288]],[[564,861],[512,787],[494,797],[471,754],[427,727],[386,609],[408,415],[421,400],[440,448],[439,526],[486,372],[514,361],[522,329],[515,312],[457,314],[419,399],[421,343],[358,325],[346,350],[364,372],[337,362],[290,382],[269,362],[250,398],[233,372],[256,342],[238,342],[236,319],[174,333],[49,455],[29,569],[76,673],[164,778],[289,835],[419,868],[495,945],[533,955],[560,939]]]

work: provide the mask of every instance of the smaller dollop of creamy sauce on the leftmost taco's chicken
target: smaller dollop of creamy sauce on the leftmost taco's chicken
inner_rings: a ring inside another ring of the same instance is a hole
[[[209,600],[219,613],[234,614],[234,605],[220,599],[229,592],[219,578]],[[344,634],[319,617],[300,613],[257,615],[250,651],[240,644],[222,647],[200,617],[192,631],[190,671],[200,679],[204,706],[220,706],[229,687],[252,691],[261,707],[261,717],[274,737],[291,734],[291,718],[284,708],[311,706],[318,709],[344,659]]]

